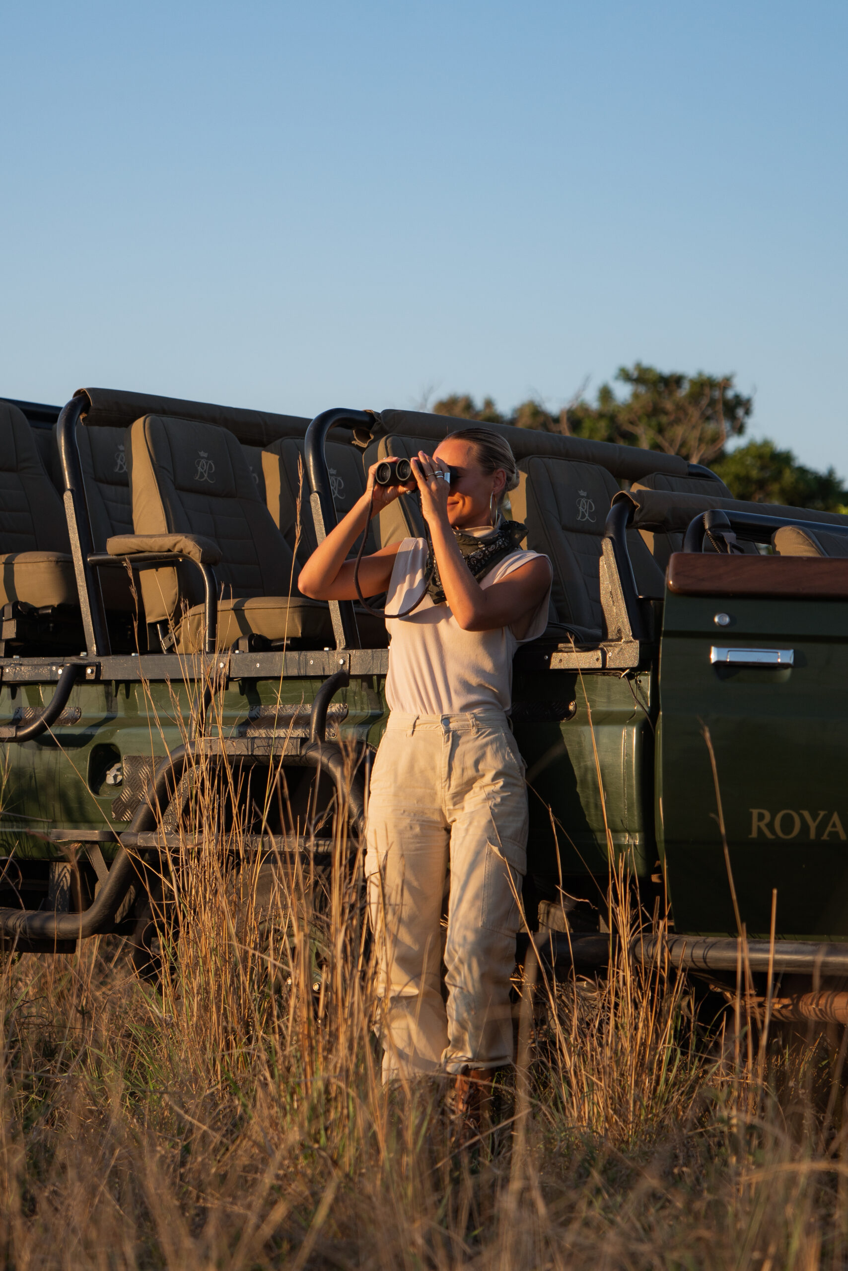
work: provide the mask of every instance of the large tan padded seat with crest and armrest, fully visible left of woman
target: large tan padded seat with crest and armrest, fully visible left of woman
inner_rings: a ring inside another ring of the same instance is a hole
[[[268,641],[332,643],[328,606],[297,595],[291,549],[231,432],[188,419],[137,419],[130,428],[130,488],[136,534],[200,534],[220,547],[215,572],[222,590],[221,648],[252,633]],[[181,564],[140,577],[147,622],[173,623],[178,651],[201,648],[197,571]]]

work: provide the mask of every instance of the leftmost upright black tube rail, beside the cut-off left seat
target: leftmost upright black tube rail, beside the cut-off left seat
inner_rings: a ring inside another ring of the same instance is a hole
[[[78,393],[62,407],[56,425],[56,441],[62,469],[62,484],[65,487],[62,501],[67,520],[67,534],[71,540],[71,557],[74,561],[80,613],[83,615],[83,630],[85,632],[85,648],[89,657],[108,657],[112,652],[112,646],[109,644],[109,632],[106,625],[106,608],[103,605],[100,580],[89,564],[94,543],[85,498],[83,466],[76,445],[76,425],[86,404],[88,398]]]

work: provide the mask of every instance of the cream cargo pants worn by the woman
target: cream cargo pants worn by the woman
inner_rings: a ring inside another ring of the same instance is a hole
[[[500,709],[392,713],[371,774],[365,860],[384,1080],[512,1061],[509,994],[526,840],[524,763]]]

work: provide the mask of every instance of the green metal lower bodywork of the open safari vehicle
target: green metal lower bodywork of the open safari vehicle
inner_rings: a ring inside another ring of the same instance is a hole
[[[744,595],[737,586],[722,592],[716,574],[715,594],[671,586],[636,611],[622,552],[628,520],[638,525],[643,511],[638,496],[613,502],[599,558],[604,639],[587,647],[543,638],[516,656],[514,730],[530,798],[528,923],[537,925],[540,902],[551,909],[566,897],[572,932],[603,930],[610,867],[623,862],[648,907],[667,896],[675,935],[735,939],[741,918],[754,941],[769,941],[774,924],[778,942],[845,942],[848,952],[848,588],[844,599],[838,586],[804,597]],[[716,660],[715,648],[791,649],[793,658],[735,665]],[[220,742],[236,768],[258,765],[267,777],[277,764],[291,775],[309,746],[311,704],[339,671],[348,683],[333,697],[333,745],[373,754],[388,719],[384,648],[184,658],[22,651],[0,657],[6,732],[15,719],[37,718],[70,663],[79,679],[58,719],[31,740],[6,736],[1,747],[5,915],[44,910],[51,868],[69,850],[90,876],[90,902],[97,855],[108,868],[156,763],[182,746]],[[198,732],[210,675],[215,708]],[[8,927],[6,946],[14,939],[50,947]]]

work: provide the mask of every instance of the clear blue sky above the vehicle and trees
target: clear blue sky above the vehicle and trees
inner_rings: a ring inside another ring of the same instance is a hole
[[[734,371],[848,477],[845,0],[6,3],[0,394]]]

